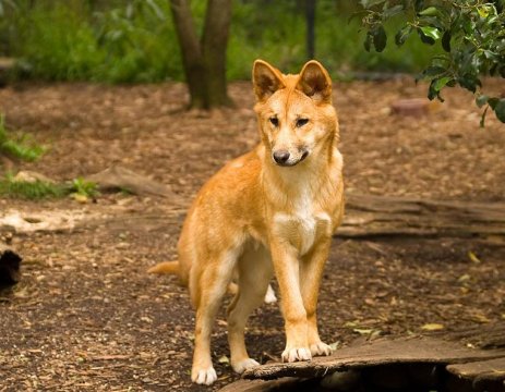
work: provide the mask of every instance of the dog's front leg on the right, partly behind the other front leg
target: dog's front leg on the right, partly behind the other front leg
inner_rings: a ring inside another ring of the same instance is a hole
[[[323,343],[317,331],[317,295],[324,265],[329,254],[332,238],[322,238],[313,249],[302,258],[300,265],[300,287],[303,306],[306,311],[308,342],[312,356],[330,355],[332,348]]]

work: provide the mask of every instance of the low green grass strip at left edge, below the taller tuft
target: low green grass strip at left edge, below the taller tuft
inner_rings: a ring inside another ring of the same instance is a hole
[[[23,199],[44,199],[68,195],[64,186],[44,181],[15,181],[11,173],[0,179],[0,196]]]

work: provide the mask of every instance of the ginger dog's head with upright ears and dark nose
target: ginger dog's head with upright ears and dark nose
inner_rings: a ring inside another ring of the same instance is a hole
[[[282,75],[256,60],[253,85],[262,142],[275,163],[310,160],[338,136],[332,79],[317,61],[309,61],[298,75]]]

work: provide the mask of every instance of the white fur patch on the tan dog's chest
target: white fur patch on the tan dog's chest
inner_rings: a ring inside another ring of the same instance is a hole
[[[330,231],[332,219],[325,212],[316,212],[311,201],[309,197],[301,197],[291,213],[274,216],[276,234],[288,240],[301,255],[312,248],[317,235]]]

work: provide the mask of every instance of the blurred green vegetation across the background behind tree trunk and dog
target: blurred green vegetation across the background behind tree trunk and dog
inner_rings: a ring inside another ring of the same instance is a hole
[[[207,1],[191,8],[201,30]],[[362,7],[351,0],[315,2],[315,58],[348,79],[356,72],[414,73],[441,51],[409,39],[382,53],[363,49]],[[249,79],[265,59],[298,70],[308,59],[303,0],[237,0],[227,51],[229,81]],[[405,14],[389,21],[394,35]],[[15,58],[14,78],[148,83],[182,81],[181,51],[168,0],[0,0],[0,57]]]

